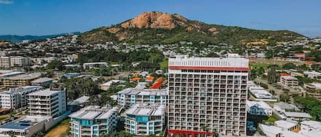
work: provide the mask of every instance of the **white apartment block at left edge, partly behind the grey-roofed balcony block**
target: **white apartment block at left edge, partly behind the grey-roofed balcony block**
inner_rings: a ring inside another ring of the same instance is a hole
[[[40,89],[42,89],[42,87],[26,86],[3,91],[0,93],[1,108],[15,110],[27,106],[27,94],[39,91]]]

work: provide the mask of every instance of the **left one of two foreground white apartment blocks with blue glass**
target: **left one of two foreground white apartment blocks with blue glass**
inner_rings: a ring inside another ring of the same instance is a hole
[[[70,133],[74,137],[108,134],[117,126],[116,107],[86,106],[69,115]]]

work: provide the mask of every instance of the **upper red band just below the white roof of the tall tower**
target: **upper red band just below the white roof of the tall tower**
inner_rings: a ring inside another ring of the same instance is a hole
[[[227,70],[227,71],[248,71],[248,67],[191,67],[191,66],[169,66],[170,70]]]

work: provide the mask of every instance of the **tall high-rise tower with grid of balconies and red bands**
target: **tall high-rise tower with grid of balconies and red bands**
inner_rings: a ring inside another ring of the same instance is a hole
[[[171,58],[168,136],[246,136],[248,59]]]

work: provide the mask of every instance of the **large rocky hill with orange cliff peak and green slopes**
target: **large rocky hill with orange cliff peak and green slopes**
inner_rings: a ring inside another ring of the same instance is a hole
[[[100,27],[81,34],[81,42],[89,44],[127,42],[130,44],[170,44],[179,41],[249,44],[274,44],[304,37],[292,31],[261,31],[242,27],[209,25],[189,20],[179,14],[144,12],[118,25]]]

